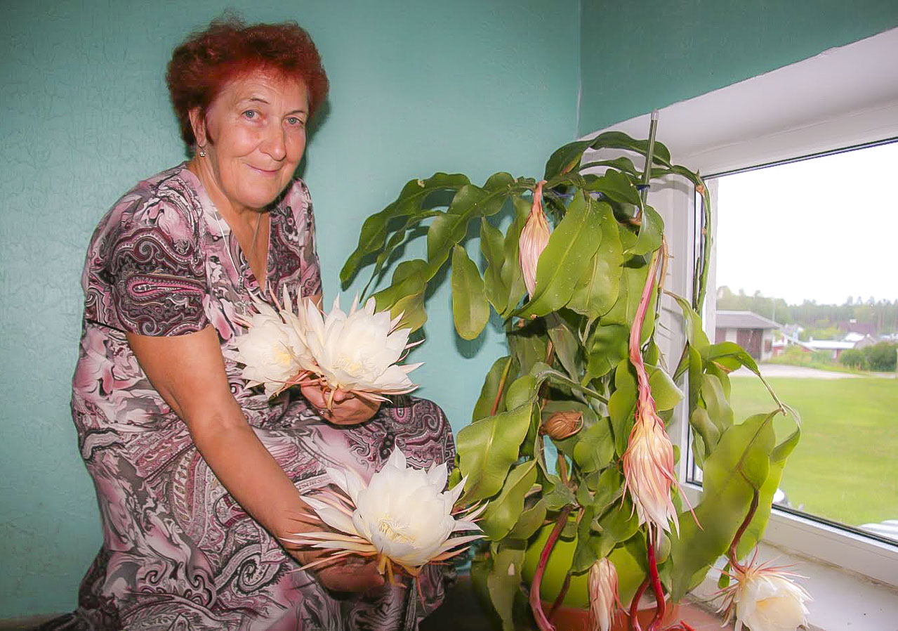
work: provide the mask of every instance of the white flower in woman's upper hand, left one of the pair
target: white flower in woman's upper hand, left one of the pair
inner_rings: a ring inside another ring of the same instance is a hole
[[[289,297],[284,294],[286,305]],[[289,308],[275,309],[255,301],[258,313],[242,321],[249,329],[236,338],[234,360],[243,364],[241,376],[250,387],[265,386],[265,394],[277,395],[309,362],[304,326]]]

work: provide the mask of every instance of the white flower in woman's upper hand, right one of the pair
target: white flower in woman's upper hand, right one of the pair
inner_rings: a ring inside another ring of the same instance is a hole
[[[408,373],[421,364],[397,365],[409,347],[410,329],[395,330],[399,318],[388,311],[374,313],[374,298],[358,308],[353,300],[349,313],[339,308],[339,298],[327,315],[311,300],[305,304],[305,342],[313,364],[304,368],[321,376],[329,389],[343,389],[381,399],[381,394],[401,395],[417,386]]]

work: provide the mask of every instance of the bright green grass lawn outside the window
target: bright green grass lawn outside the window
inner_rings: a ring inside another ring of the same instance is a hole
[[[898,381],[771,378],[802,419],[780,487],[792,506],[852,526],[898,520]],[[757,378],[731,378],[737,419],[773,409]],[[778,420],[778,438],[787,425]]]

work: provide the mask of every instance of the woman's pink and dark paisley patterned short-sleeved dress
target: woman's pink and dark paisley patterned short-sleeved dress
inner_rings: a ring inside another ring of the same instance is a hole
[[[321,293],[308,190],[293,182],[270,210],[269,289]],[[149,383],[125,333],[179,335],[212,324],[222,350],[259,283],[224,218],[185,164],[140,182],[102,218],[82,279],[84,328],[72,395],[82,457],[100,504],[103,545],[74,613],[53,629],[392,629],[409,590],[328,591],[252,520],[207,467],[187,426]],[[393,447],[424,467],[453,460],[442,411],[405,396],[369,422],[323,422],[301,395],[268,400],[225,364],[236,400],[300,491],[325,467],[371,475]],[[240,458],[240,454],[234,454]],[[444,567],[420,578],[421,618],[443,598]],[[422,598],[423,597],[423,598]]]

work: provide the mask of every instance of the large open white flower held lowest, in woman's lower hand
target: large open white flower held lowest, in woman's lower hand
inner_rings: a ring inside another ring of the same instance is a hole
[[[463,547],[482,534],[454,537],[460,530],[480,530],[471,521],[480,509],[461,519],[453,517],[453,507],[464,488],[464,480],[443,491],[446,466],[429,470],[406,467],[401,450],[393,449],[380,471],[368,484],[351,469],[327,470],[345,496],[324,491],[304,501],[319,520],[337,532],[301,532],[286,539],[301,546],[332,551],[306,567],[332,563],[340,556],[356,554],[376,557],[378,570],[392,576],[392,564],[417,575],[421,566],[462,552]]]

